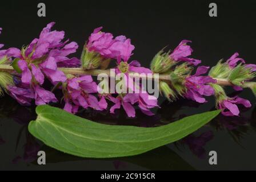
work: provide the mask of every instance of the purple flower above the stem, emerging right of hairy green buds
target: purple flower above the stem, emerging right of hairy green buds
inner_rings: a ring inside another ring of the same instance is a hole
[[[201,60],[188,57],[192,54],[193,49],[190,46],[187,46],[187,43],[191,43],[191,41],[182,40],[182,42],[179,43],[179,46],[174,49],[173,53],[171,53],[171,59],[173,59],[174,61],[186,61],[193,65],[200,64]]]

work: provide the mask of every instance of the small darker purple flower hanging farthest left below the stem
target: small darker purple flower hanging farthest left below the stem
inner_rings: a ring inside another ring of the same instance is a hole
[[[30,106],[32,99],[34,99],[34,92],[31,89],[19,88],[17,86],[9,86],[8,87],[9,94],[15,100],[19,102],[19,104],[23,106]]]

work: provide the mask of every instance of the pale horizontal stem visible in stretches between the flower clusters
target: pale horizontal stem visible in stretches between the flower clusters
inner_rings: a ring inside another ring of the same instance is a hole
[[[71,74],[71,75],[91,75],[91,76],[98,76],[101,73],[106,74],[107,76],[110,75],[110,69],[91,69],[91,70],[84,70],[83,68],[58,68],[60,71],[62,71],[65,74]],[[8,72],[8,73],[15,73],[13,67],[7,64],[1,64],[0,65],[0,71],[2,72]],[[154,78],[154,74],[153,77]],[[221,78],[214,78],[217,80],[217,84],[221,86],[233,86],[228,80],[221,79]],[[169,75],[159,75],[159,80],[162,81],[170,81]]]

